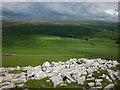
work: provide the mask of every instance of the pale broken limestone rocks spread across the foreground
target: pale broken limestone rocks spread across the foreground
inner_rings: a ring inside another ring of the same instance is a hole
[[[57,85],[66,86],[64,82],[67,83],[77,83],[84,84],[86,80],[95,80],[95,82],[90,82],[88,85],[93,87],[95,84],[98,86],[102,86],[101,82],[106,79],[110,83],[116,79],[120,80],[120,71],[110,70],[110,67],[116,67],[119,63],[114,60],[102,60],[98,59],[70,59],[66,62],[58,61],[44,62],[42,66],[26,66],[20,67],[17,66],[15,68],[0,68],[0,74],[4,74],[4,76],[0,76],[0,86],[2,88],[14,88],[16,83],[19,87],[23,87],[24,84],[22,82],[27,82],[29,79],[43,79],[49,77],[49,79],[53,82],[53,86]],[[27,72],[21,72],[16,74],[11,74],[9,71],[13,70],[26,70]],[[95,79],[93,76],[93,72],[98,70],[106,70],[110,74],[109,76],[102,74],[98,79]],[[117,77],[117,78],[116,78]],[[46,82],[49,82],[47,80]],[[113,85],[109,85],[106,87],[111,87]]]

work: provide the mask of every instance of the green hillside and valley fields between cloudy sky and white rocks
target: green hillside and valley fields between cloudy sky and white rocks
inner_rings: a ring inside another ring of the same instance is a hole
[[[93,55],[118,60],[118,45],[115,44],[115,40],[112,40],[117,38],[114,23],[114,31],[108,28],[111,23],[96,22],[95,24],[95,21],[79,22],[80,25],[76,25],[73,21],[71,23],[72,25],[68,22],[56,24],[53,21],[4,21],[3,54]],[[104,24],[104,29],[100,28],[100,23]],[[69,38],[75,36],[77,37]],[[90,39],[85,41],[85,38]],[[56,61],[63,57],[49,58],[50,61]],[[38,62],[34,63],[33,60]],[[48,60],[48,57],[42,59],[41,57],[3,56],[3,66],[38,65],[45,60]]]

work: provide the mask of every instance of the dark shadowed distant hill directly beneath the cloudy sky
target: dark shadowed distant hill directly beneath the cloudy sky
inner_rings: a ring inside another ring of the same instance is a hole
[[[102,37],[117,39],[118,24],[90,20],[3,20],[8,35],[53,35],[71,38]]]

